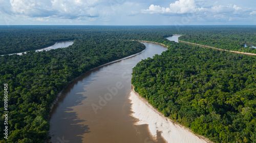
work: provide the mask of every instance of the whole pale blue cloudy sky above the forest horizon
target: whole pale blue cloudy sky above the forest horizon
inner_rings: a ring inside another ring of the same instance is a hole
[[[0,0],[0,25],[255,24],[255,0]]]

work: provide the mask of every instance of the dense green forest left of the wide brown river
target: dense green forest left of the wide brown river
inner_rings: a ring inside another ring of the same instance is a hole
[[[44,142],[50,106],[74,78],[145,48],[131,39],[165,41],[171,36],[161,26],[0,26],[0,33],[1,54],[34,49],[22,56],[0,56],[0,94],[9,94],[8,140],[1,136],[0,142]],[[70,39],[74,44],[67,48],[35,52]],[[3,134],[4,96],[0,100]]]

